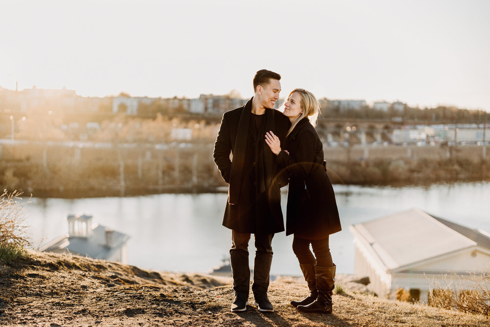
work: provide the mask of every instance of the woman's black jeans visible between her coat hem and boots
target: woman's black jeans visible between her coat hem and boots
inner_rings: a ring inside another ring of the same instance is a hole
[[[310,251],[310,244],[315,255]],[[307,240],[294,236],[293,251],[300,265],[308,265],[315,263],[315,261],[319,267],[328,268],[334,265],[328,247],[328,236],[321,240]]]

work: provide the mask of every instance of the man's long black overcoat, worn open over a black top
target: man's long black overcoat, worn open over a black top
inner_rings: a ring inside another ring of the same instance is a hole
[[[277,176],[281,168],[265,134],[271,130],[285,141],[290,122],[280,111],[266,109],[257,130],[251,118],[252,99],[223,114],[213,157],[229,183],[223,226],[240,233],[271,234],[284,230],[280,187],[287,181]]]

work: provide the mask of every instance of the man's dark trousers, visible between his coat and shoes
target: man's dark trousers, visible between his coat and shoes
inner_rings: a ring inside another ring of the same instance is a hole
[[[272,237],[274,234],[254,234],[255,261],[253,267],[252,293],[257,296],[267,293],[272,262]],[[248,296],[250,268],[248,266],[248,241],[250,233],[231,231],[230,264],[233,274],[233,290]]]

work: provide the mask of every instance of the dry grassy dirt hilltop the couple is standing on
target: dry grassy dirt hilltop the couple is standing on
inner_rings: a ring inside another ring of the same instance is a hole
[[[229,278],[147,272],[102,260],[34,252],[31,259],[0,264],[0,325],[490,326],[483,316],[361,294],[365,286],[358,279],[339,278],[347,293],[334,295],[332,315],[301,313],[292,307],[292,299],[307,294],[304,281],[293,277],[271,282],[274,312],[248,306],[232,313]]]

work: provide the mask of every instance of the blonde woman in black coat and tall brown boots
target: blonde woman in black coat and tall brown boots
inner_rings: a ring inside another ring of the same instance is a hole
[[[310,289],[306,299],[291,304],[306,312],[331,313],[336,266],[328,237],[342,228],[324,166],[323,145],[314,127],[319,103],[311,92],[294,89],[283,105],[292,125],[284,147],[288,151],[281,150],[279,138],[271,131],[266,134],[266,142],[290,177],[286,235],[294,234],[293,251]]]

